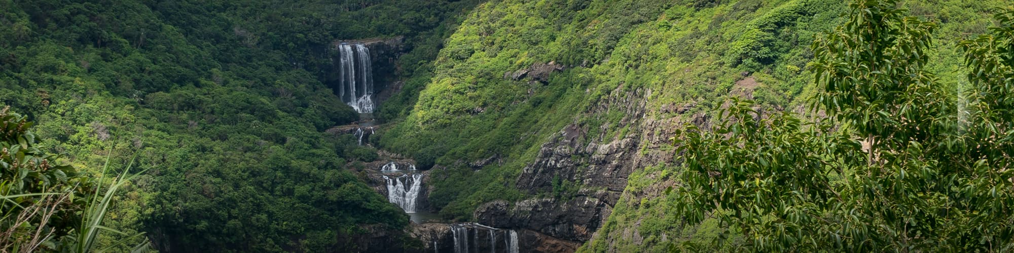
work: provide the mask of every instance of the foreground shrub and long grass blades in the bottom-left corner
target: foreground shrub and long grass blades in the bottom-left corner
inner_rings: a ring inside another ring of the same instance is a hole
[[[103,224],[116,192],[136,174],[128,176],[129,168],[124,170],[99,194],[103,177],[85,177],[41,151],[28,132],[32,124],[9,107],[0,109],[0,251],[83,253],[140,241],[134,248],[145,252],[143,233],[130,235]],[[99,247],[103,233],[125,239]]]

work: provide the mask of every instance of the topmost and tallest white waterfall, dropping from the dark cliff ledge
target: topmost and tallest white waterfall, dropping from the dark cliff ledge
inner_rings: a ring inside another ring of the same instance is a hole
[[[353,50],[355,47],[355,50]],[[356,112],[373,112],[373,66],[370,50],[361,44],[342,44],[340,56],[338,96]]]

